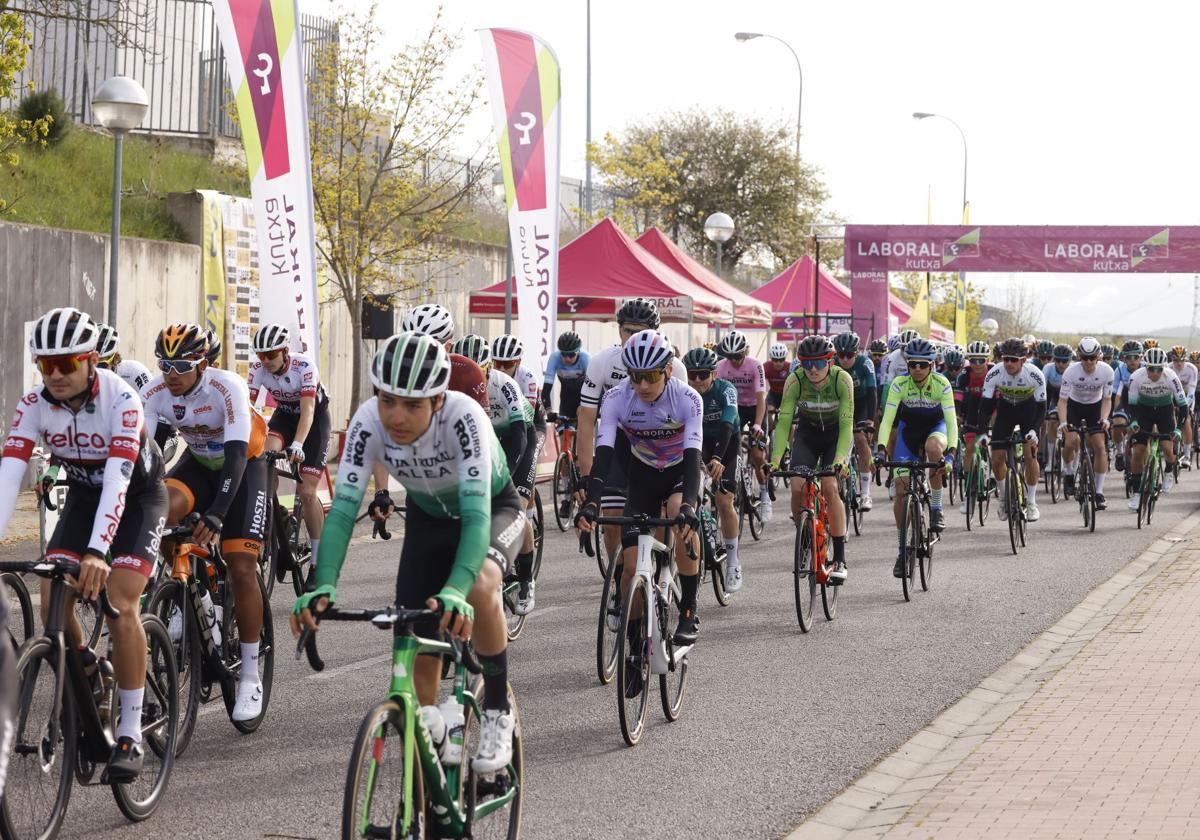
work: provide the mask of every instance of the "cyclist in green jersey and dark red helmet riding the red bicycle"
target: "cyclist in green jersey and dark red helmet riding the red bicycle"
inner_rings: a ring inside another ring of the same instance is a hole
[[[844,469],[850,460],[854,431],[854,380],[833,362],[833,342],[824,336],[806,336],[797,346],[800,370],[793,371],[784,389],[779,424],[770,445],[770,469],[780,467],[784,450],[791,444],[790,469]],[[792,432],[792,418],[796,431]],[[798,520],[804,505],[804,482],[792,482],[792,517]],[[834,570],[832,586],[841,586],[846,569],[846,506],[838,494],[838,479],[821,479],[821,494],[829,514]]]

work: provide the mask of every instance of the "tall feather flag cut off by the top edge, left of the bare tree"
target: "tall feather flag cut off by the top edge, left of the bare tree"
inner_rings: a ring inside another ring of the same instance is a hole
[[[259,323],[319,355],[312,157],[298,0],[214,0],[246,146],[258,239]]]

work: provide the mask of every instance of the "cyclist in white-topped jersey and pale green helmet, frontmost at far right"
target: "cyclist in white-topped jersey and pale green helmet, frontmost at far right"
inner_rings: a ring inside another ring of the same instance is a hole
[[[1142,366],[1129,377],[1129,480],[1133,494],[1129,497],[1129,510],[1138,510],[1141,500],[1141,470],[1146,463],[1146,432],[1159,434],[1175,433],[1170,440],[1163,440],[1163,455],[1169,466],[1175,463],[1175,442],[1182,436],[1175,425],[1176,410],[1187,406],[1183,383],[1166,364],[1166,352],[1152,347],[1142,356]],[[1145,430],[1145,431],[1142,431]],[[1175,475],[1168,469],[1163,474],[1163,492],[1175,486]]]

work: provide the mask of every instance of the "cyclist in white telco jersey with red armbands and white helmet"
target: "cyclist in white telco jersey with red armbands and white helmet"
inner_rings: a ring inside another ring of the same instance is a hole
[[[95,600],[101,589],[120,612],[112,619],[113,665],[120,719],[104,784],[132,781],[142,772],[142,702],[146,637],[138,600],[150,578],[167,517],[162,455],[146,433],[137,392],[98,368],[98,329],[79,310],[50,310],[34,324],[30,350],[42,386],[26,392],[13,413],[0,461],[0,536],[8,526],[29,458],[38,440],[64,468],[70,485],[46,557],[78,565],[76,590]],[[72,604],[66,605],[70,643],[83,641]],[[50,607],[43,583],[42,622]],[[0,647],[7,647],[5,640]],[[7,674],[6,674],[6,683]],[[11,685],[11,683],[8,683]],[[6,742],[8,733],[0,733]],[[8,751],[0,754],[0,768]],[[0,773],[2,775],[2,773]]]

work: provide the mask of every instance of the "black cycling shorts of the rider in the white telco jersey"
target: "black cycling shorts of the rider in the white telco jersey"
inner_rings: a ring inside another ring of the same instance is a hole
[[[157,448],[156,448],[157,451]],[[151,475],[125,497],[125,512],[109,544],[113,569],[131,569],[149,578],[158,557],[158,541],[167,527],[167,487],[162,482],[162,458],[154,458]],[[88,550],[92,522],[100,506],[100,487],[72,485],[59,524],[46,544],[47,559],[78,563]]]

